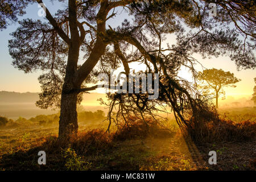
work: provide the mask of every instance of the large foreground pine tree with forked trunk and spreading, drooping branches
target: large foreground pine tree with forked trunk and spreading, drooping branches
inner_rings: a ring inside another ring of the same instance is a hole
[[[76,105],[83,92],[97,88],[87,84],[96,84],[98,73],[122,66],[128,75],[130,63],[144,64],[146,71],[141,72],[159,73],[159,100],[148,100],[147,94],[109,95],[113,99],[110,108],[118,104],[122,108],[119,115],[125,119],[129,109],[134,114],[152,114],[152,109],[158,110],[156,104],[166,103],[177,122],[185,123],[184,111],[195,113],[202,103],[189,82],[177,76],[181,65],[196,75],[193,53],[203,57],[225,54],[238,69],[255,68],[251,44],[255,41],[254,1],[59,1],[66,3],[67,9],[53,16],[46,7],[48,22],[19,21],[19,28],[11,34],[9,52],[14,67],[25,73],[44,71],[36,105],[60,107],[60,139],[77,132]],[[217,5],[216,17],[209,16],[212,2]],[[109,19],[125,13],[131,20],[116,28],[108,26]],[[175,35],[176,44],[164,46],[170,34]]]

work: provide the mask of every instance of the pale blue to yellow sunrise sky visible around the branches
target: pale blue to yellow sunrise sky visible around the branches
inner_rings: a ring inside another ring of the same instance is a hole
[[[64,7],[63,4],[60,5],[56,1],[54,2],[54,5],[52,5],[51,2],[46,2],[46,6],[52,14],[54,14],[59,7],[61,9]],[[19,19],[32,18],[44,20],[43,17],[38,16],[39,10],[38,5],[34,3],[27,7],[27,14]],[[114,19],[109,19],[108,23],[115,27],[118,24],[121,24],[122,20],[125,18],[127,18],[127,14],[117,15]],[[24,74],[23,71],[19,71],[11,65],[12,58],[8,51],[8,40],[11,39],[10,33],[15,31],[17,27],[18,23],[15,23],[7,27],[6,30],[0,31],[0,90],[11,92],[40,92],[38,76],[42,74],[41,71]],[[166,41],[171,44],[173,38],[168,37]],[[246,69],[238,72],[236,64],[234,64],[229,57],[220,56],[217,58],[213,57],[212,59],[202,59],[200,55],[195,55],[195,57],[205,68],[217,68],[223,69],[224,71],[230,71],[234,73],[237,78],[242,80],[236,84],[236,88],[225,88],[226,96],[250,97],[253,93],[255,85],[253,78],[256,77],[255,70]],[[197,71],[202,70],[200,65],[196,65],[196,69]],[[181,70],[180,76],[187,78],[188,80],[191,79],[191,75],[189,75],[188,71],[185,69]]]

